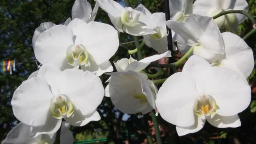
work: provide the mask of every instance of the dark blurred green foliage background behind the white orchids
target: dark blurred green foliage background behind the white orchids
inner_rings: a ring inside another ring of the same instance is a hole
[[[63,24],[71,17],[71,9],[75,0],[0,0],[0,61],[16,60],[17,71],[10,75],[8,72],[0,73],[0,141],[5,139],[7,133],[19,121],[14,117],[11,108],[11,98],[15,89],[23,80],[37,70],[35,56],[32,48],[32,36],[40,23],[51,21],[55,24]],[[117,0],[118,1],[118,0]],[[94,0],[88,0],[92,8]],[[123,1],[118,1],[124,4]],[[146,6],[149,11],[165,12],[164,0],[130,0],[135,8],[139,3]],[[249,13],[256,16],[256,0],[248,0]],[[107,14],[99,8],[96,21],[111,24]],[[112,24],[111,24],[112,25]],[[252,27],[251,22],[245,20],[240,24],[237,35],[243,37]],[[225,29],[221,29],[225,31]],[[141,39],[142,37],[140,37]],[[133,37],[120,33],[120,43],[132,41]],[[249,37],[246,42],[256,53],[256,35]],[[125,45],[133,49],[133,43]],[[143,49],[144,56],[155,54],[152,49]],[[178,54],[178,53],[177,53]],[[110,61],[128,58],[127,50],[120,46],[115,56]],[[154,72],[154,69],[151,69]],[[163,77],[168,77],[165,70]],[[102,82],[108,76],[101,76]],[[250,85],[256,93],[255,78],[250,77]],[[106,85],[104,85],[106,86]],[[101,143],[143,143],[146,135],[154,138],[151,117],[147,115],[126,115],[118,111],[109,98],[104,98],[98,107],[101,120],[90,122],[83,127],[72,127],[75,141],[90,139],[104,140]],[[242,126],[239,128],[215,128],[208,123],[204,128],[186,136],[177,136],[175,126],[165,122],[160,116],[158,121],[164,143],[170,144],[256,144],[256,101],[252,101],[250,107],[239,114]],[[106,139],[107,140],[106,140]],[[98,143],[99,141],[92,141]],[[107,141],[107,142],[106,142]],[[87,141],[88,142],[88,141]],[[85,143],[83,141],[83,143]],[[82,144],[82,143],[79,143]]]

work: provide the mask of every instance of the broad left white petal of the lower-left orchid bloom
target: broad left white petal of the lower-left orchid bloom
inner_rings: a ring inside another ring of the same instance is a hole
[[[45,125],[53,97],[46,80],[32,77],[22,83],[11,100],[13,113],[22,123],[32,126]]]

